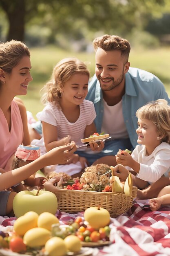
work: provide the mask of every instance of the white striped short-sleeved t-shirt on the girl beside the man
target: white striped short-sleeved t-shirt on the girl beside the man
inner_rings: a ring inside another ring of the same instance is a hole
[[[58,108],[55,103],[48,103],[40,113],[39,119],[53,126],[57,126],[58,140],[70,135],[76,144],[82,145],[80,139],[84,138],[86,126],[93,123],[96,112],[93,102],[88,100],[84,100],[79,105],[79,108],[79,118],[75,123],[70,123],[63,114],[62,109]]]

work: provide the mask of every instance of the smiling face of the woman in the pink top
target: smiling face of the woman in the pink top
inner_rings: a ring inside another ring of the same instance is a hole
[[[29,56],[24,56],[18,65],[13,67],[10,74],[5,72],[4,86],[10,95],[26,95],[29,82],[33,80],[30,69],[30,58]]]

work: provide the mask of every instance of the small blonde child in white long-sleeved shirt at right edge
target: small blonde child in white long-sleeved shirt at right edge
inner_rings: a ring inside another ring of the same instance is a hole
[[[170,184],[170,106],[164,99],[159,99],[139,108],[136,112],[138,117],[137,145],[132,155],[121,150],[116,155],[117,166],[114,175],[125,180],[129,166],[130,171],[135,171],[133,185],[139,189],[137,197],[152,198],[159,191]],[[166,176],[166,177],[164,177]]]

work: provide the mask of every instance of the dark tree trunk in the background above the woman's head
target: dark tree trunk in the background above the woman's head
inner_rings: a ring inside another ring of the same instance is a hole
[[[25,0],[1,0],[1,6],[9,20],[7,40],[24,41]]]

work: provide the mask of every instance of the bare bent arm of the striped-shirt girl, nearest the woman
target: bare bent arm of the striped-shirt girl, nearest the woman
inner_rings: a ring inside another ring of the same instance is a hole
[[[48,124],[42,121],[42,129],[46,151],[49,151],[52,148],[67,145],[69,142],[71,142],[70,135],[67,135],[67,137],[57,140],[57,126],[53,126],[52,124]]]

